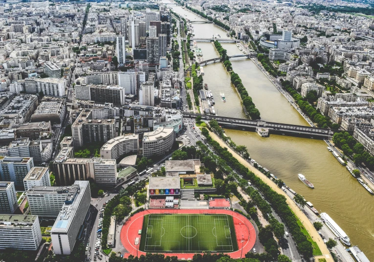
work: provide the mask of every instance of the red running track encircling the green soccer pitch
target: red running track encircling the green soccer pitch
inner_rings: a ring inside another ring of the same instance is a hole
[[[145,252],[142,251],[136,251],[137,247],[135,245],[135,238],[141,237],[141,235],[138,234],[139,229],[142,229],[143,227],[143,219],[144,215],[147,214],[165,214],[165,213],[171,213],[171,214],[228,214],[233,217],[234,221],[234,228],[235,233],[237,236],[238,241],[238,251],[225,253],[229,255],[233,259],[239,259],[241,257],[241,253],[244,256],[246,253],[248,253],[256,242],[256,231],[251,222],[242,214],[235,213],[231,210],[159,210],[159,209],[153,209],[153,210],[146,210],[139,212],[137,214],[134,214],[132,217],[129,218],[129,220],[126,221],[126,223],[123,225],[121,230],[121,242],[123,246],[126,248],[126,250],[129,253],[125,253],[124,257],[128,258],[130,255],[133,255],[136,257],[136,255],[146,255]],[[241,243],[241,240],[244,239],[244,242]],[[140,243],[140,240],[139,240]],[[242,250],[243,249],[243,250]],[[165,256],[177,256],[178,259],[192,259],[195,253],[164,253]]]

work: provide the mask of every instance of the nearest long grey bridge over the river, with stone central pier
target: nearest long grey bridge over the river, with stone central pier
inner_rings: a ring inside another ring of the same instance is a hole
[[[257,131],[257,128],[263,127],[269,129],[269,134],[279,134],[287,136],[297,136],[297,137],[308,137],[308,138],[329,138],[334,132],[328,128],[318,128],[311,126],[284,124],[267,122],[264,120],[250,120],[250,119],[237,119],[237,118],[227,118],[220,116],[210,116],[210,115],[200,115],[189,112],[183,112],[183,117],[196,118],[200,116],[204,120],[216,119],[217,122],[224,126],[225,128],[231,129],[241,129],[247,131]]]

